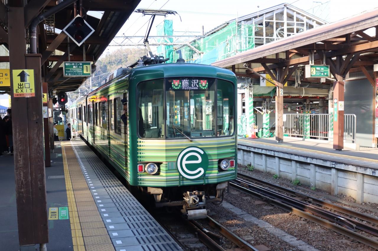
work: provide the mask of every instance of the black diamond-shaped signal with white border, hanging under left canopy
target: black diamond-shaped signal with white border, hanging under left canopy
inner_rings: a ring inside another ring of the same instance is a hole
[[[77,46],[81,46],[82,43],[95,32],[95,30],[80,15],[77,15],[71,20],[63,31],[77,44]]]

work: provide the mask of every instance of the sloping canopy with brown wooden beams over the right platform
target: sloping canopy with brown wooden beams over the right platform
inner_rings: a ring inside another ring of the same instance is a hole
[[[247,64],[256,72],[274,75],[279,72],[280,83],[285,83],[295,81],[292,76],[294,71],[301,67],[304,70],[313,57],[314,64],[330,65],[333,78],[336,75],[345,78],[348,72],[363,72],[370,83],[375,85],[370,72],[378,59],[377,39],[378,10],[375,9],[258,46],[212,65],[232,70],[238,77],[260,78],[246,69]],[[321,83],[319,78],[304,76],[301,81]],[[332,83],[333,80],[327,78],[323,84]]]

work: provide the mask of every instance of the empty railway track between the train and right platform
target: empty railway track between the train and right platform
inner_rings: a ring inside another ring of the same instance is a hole
[[[378,219],[375,217],[329,202],[324,202],[317,198],[297,193],[242,173],[238,173],[238,178],[231,181],[230,185],[237,190],[262,197],[263,199],[268,200],[269,203],[290,211],[297,216],[311,220],[325,228],[378,249],[378,242],[376,240],[356,232],[357,230],[360,230],[378,236],[378,228],[376,227]],[[269,187],[270,189],[266,187]],[[301,200],[283,193],[300,197]]]

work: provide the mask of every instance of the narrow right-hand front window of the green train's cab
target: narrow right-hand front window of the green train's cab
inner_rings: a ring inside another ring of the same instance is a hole
[[[217,135],[234,134],[234,85],[225,80],[217,83]]]

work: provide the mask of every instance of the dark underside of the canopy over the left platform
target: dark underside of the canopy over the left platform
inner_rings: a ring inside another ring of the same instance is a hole
[[[57,2],[59,1],[29,0],[25,10],[30,13],[30,16],[25,16],[25,27],[28,27],[27,22],[31,23],[35,16],[56,6]],[[78,13],[79,2],[77,1],[76,6]],[[42,75],[45,77],[44,82],[48,83],[48,89],[55,92],[70,92],[79,88],[87,77],[63,77],[61,66],[63,61],[68,61],[68,50],[70,61],[92,61],[92,72],[94,72],[96,60],[105,51],[139,2],[140,0],[82,0],[82,17],[95,30],[85,41],[84,47],[77,46],[72,40],[68,42],[67,35],[62,32],[62,29],[74,18],[73,4],[42,21],[37,26],[37,53],[42,55]],[[7,16],[6,12],[4,3],[0,3],[0,19]],[[1,21],[7,23],[7,20]],[[0,44],[8,47],[8,34],[3,28],[0,28]],[[0,61],[9,62],[9,57],[0,57]],[[9,91],[9,87],[8,89],[3,87],[0,90]]]

